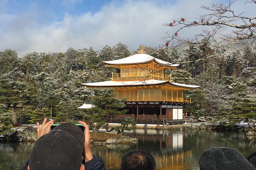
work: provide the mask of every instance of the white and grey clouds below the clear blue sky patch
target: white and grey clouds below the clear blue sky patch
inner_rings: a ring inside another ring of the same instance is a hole
[[[173,4],[157,4],[157,1],[124,1],[120,4],[113,1],[97,13],[66,14],[62,21],[51,25],[41,24],[31,16],[36,10],[27,15],[0,14],[0,22],[4,23],[0,26],[0,50],[11,48],[22,56],[33,51],[65,52],[69,47],[99,50],[104,45],[113,47],[118,42],[130,49],[136,49],[141,43],[158,47],[163,44],[161,37],[165,32],[174,31],[162,24],[181,17],[193,20],[204,12],[199,6],[209,5],[213,0],[170,2]],[[191,36],[194,31],[198,29],[183,34]]]

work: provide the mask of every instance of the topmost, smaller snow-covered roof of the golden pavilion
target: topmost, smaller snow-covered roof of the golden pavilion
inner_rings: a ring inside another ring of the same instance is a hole
[[[122,65],[122,64],[139,64],[139,63],[148,63],[151,61],[155,61],[159,64],[164,64],[171,67],[178,67],[179,64],[172,64],[166,61],[163,61],[161,59],[155,58],[153,56],[150,56],[148,54],[142,53],[142,54],[135,54],[126,58],[117,59],[113,61],[103,61],[106,64],[109,65]]]

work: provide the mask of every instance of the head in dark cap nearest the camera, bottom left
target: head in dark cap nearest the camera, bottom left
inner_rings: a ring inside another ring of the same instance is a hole
[[[28,170],[84,170],[83,145],[64,130],[52,130],[34,144]]]

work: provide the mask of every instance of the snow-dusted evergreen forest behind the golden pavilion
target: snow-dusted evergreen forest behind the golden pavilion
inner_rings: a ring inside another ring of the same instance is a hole
[[[140,50],[140,47],[138,47]],[[184,112],[195,116],[250,114],[256,111],[256,53],[251,48],[229,50],[214,56],[209,42],[173,48],[145,47],[148,55],[171,63],[182,63],[180,69],[166,71],[173,82],[201,85],[184,92],[192,104]],[[29,53],[18,57],[16,51],[0,52],[0,120],[8,126],[15,123],[41,122],[52,117],[58,122],[76,121],[85,112],[78,110],[95,95],[81,83],[110,80],[112,72],[102,61],[130,56],[122,43],[102,50],[75,50],[65,53]],[[190,62],[188,62],[190,61]],[[14,118],[12,120],[12,117]]]

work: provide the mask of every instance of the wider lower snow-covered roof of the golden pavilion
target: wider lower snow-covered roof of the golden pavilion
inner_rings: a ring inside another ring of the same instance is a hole
[[[160,85],[160,84],[166,84],[173,85],[176,87],[184,87],[189,89],[198,88],[200,86],[196,85],[186,85],[186,84],[180,84],[180,83],[173,83],[169,80],[135,80],[135,81],[105,81],[105,82],[96,82],[96,83],[82,83],[82,85],[85,85],[86,87],[127,87],[127,86],[147,86],[147,85]]]

